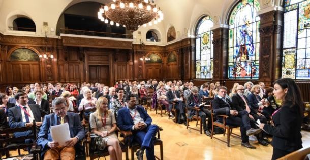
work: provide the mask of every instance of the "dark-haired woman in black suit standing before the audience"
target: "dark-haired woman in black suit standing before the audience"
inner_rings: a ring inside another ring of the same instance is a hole
[[[300,132],[304,104],[293,79],[275,81],[273,93],[277,99],[283,100],[281,108],[272,114],[272,125],[260,124],[260,128],[273,135],[272,159],[277,159],[302,148]]]

